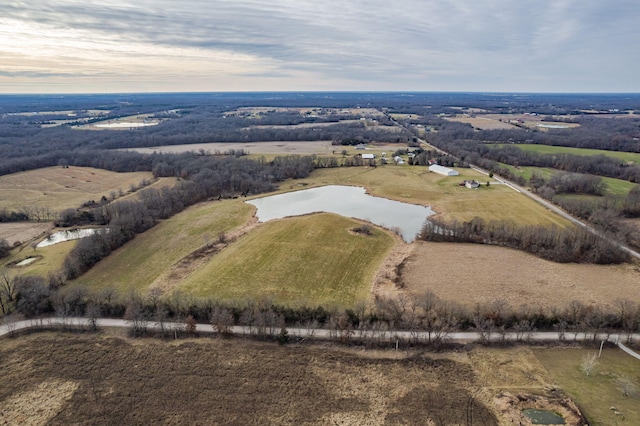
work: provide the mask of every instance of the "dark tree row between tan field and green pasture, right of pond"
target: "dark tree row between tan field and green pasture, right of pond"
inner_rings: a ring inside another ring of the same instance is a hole
[[[601,235],[575,226],[559,228],[522,226],[506,221],[425,222],[419,234],[424,241],[448,241],[500,245],[523,250],[560,263],[623,263],[629,254]]]

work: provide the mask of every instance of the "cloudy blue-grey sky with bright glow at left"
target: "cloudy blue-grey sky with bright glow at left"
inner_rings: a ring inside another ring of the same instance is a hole
[[[0,0],[0,93],[640,92],[638,0]]]

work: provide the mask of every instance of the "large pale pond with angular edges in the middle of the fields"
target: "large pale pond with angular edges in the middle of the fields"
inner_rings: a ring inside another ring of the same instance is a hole
[[[257,207],[260,222],[310,213],[335,213],[387,229],[397,228],[407,242],[415,239],[427,217],[433,214],[429,207],[373,197],[364,188],[342,185],[256,198],[247,203]]]

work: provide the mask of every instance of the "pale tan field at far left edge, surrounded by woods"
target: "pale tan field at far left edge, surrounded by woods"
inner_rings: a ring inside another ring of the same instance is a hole
[[[111,191],[128,192],[131,185],[153,179],[150,172],[116,173],[90,167],[47,167],[0,177],[0,208],[38,206],[52,211],[98,201]],[[156,184],[166,184],[157,182]]]

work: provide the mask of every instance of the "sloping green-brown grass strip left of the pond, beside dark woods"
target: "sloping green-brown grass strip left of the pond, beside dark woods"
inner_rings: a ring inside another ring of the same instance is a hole
[[[246,224],[252,213],[252,206],[236,200],[192,206],[136,236],[74,285],[146,289],[174,263],[202,247],[205,240],[215,240],[220,232]]]

